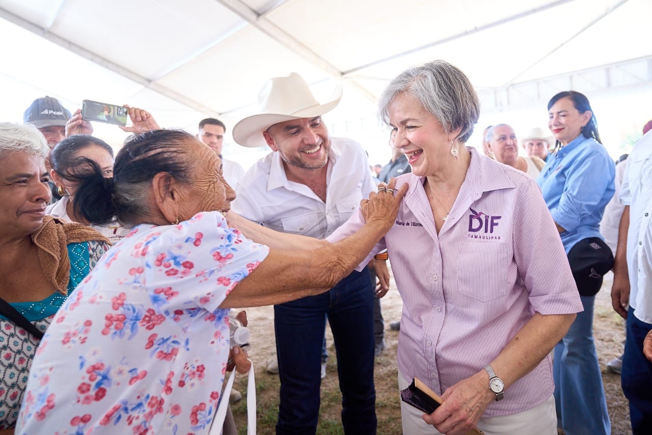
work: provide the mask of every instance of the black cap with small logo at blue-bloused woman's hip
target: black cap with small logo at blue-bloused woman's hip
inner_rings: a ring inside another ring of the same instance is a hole
[[[614,266],[614,254],[604,240],[589,237],[572,247],[569,264],[580,295],[593,296],[602,287],[602,276]]]

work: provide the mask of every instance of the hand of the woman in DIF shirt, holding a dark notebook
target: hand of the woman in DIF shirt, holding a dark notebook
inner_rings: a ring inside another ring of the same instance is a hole
[[[447,389],[442,404],[432,414],[424,414],[423,421],[447,435],[462,435],[477,425],[487,406],[496,400],[489,389],[489,377],[475,374]]]

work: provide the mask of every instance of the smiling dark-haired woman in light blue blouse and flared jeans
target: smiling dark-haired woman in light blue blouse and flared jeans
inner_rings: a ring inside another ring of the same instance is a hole
[[[548,127],[555,152],[537,183],[557,224],[566,253],[580,240],[600,236],[600,220],[614,195],[614,161],[606,152],[589,100],[582,93],[558,93],[548,103]],[[610,434],[600,365],[593,343],[595,296],[580,296],[578,313],[555,347],[553,376],[557,426],[566,434]]]

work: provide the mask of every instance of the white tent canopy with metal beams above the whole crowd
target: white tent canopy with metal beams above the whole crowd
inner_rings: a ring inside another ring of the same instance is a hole
[[[268,78],[295,71],[324,97],[344,85],[332,134],[384,144],[379,93],[409,65],[445,59],[476,86],[483,116],[539,106],[543,126],[557,91],[647,95],[650,17],[649,0],[0,0],[0,89],[14,102],[0,116],[20,120],[51,95],[71,110],[140,106],[193,132],[206,116],[231,127]]]

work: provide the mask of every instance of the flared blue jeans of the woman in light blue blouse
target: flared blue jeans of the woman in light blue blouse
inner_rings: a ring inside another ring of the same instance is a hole
[[[580,296],[584,311],[555,346],[557,426],[567,435],[610,435],[611,421],[602,386],[600,364],[593,342],[595,296]]]

